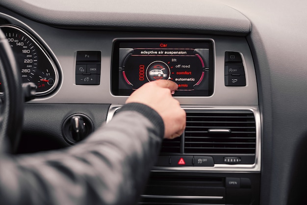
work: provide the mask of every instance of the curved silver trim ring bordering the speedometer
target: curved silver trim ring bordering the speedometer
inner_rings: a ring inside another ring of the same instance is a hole
[[[35,45],[37,46],[37,48],[39,50],[41,50],[44,55],[47,57],[48,61],[50,62],[51,66],[52,66],[52,69],[54,71],[54,74],[55,74],[55,79],[54,79],[54,83],[53,85],[51,86],[51,88],[49,90],[46,90],[44,92],[36,92],[36,96],[44,96],[44,95],[48,95],[50,94],[57,86],[58,86],[58,83],[59,83],[59,72],[58,72],[58,69],[55,65],[55,63],[53,62],[53,60],[51,59],[51,56],[47,53],[47,51],[44,49],[44,47],[36,40],[36,38],[34,38],[31,34],[29,34],[26,30],[24,30],[23,28],[19,27],[19,26],[15,26],[15,25],[2,25],[0,27],[9,27],[9,28],[13,28],[13,29],[16,29],[20,32],[22,32],[23,34],[25,34],[29,39],[32,40],[32,42],[35,43]]]

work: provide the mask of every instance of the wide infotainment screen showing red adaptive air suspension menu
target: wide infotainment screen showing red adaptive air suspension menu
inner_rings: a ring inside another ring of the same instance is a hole
[[[174,96],[211,96],[213,62],[209,40],[116,40],[111,90],[128,96],[146,82],[166,79],[179,86]]]

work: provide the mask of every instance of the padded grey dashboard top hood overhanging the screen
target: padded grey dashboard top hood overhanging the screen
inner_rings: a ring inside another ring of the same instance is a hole
[[[1,0],[1,5],[45,24],[147,31],[247,35],[249,20],[229,6],[209,0]],[[184,5],[185,6],[182,6]],[[192,11],[192,12],[191,12]]]

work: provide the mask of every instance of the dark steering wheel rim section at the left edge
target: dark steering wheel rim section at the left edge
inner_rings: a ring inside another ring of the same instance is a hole
[[[0,102],[0,146],[10,143],[16,152],[23,126],[24,96],[20,72],[11,46],[0,30],[0,78],[4,94]]]

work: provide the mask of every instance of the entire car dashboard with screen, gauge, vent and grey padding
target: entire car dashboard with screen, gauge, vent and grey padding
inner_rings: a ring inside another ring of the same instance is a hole
[[[179,84],[172,94],[186,129],[163,141],[139,204],[306,202],[307,72],[302,52],[291,52],[307,41],[291,20],[291,31],[278,32],[273,4],[259,17],[260,3],[253,10],[240,0],[65,2],[0,1],[0,28],[23,82],[37,88],[25,103],[19,154],[74,146],[133,90],[169,79]],[[76,117],[86,125],[81,138],[71,128]]]

